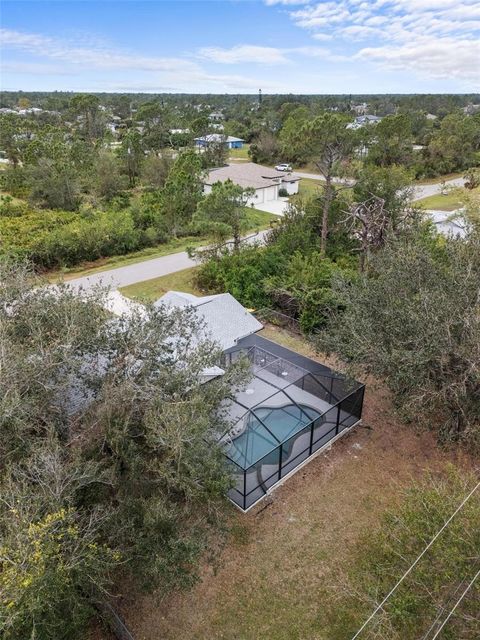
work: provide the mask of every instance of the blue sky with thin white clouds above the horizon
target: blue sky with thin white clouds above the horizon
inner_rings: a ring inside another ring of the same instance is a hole
[[[470,93],[480,0],[3,0],[1,87]]]

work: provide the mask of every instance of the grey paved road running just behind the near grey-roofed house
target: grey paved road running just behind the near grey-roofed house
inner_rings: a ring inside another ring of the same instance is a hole
[[[247,242],[263,242],[267,233],[268,230],[248,236]],[[168,256],[137,262],[136,264],[130,264],[125,267],[117,267],[116,269],[101,271],[100,273],[92,273],[82,278],[74,278],[69,280],[67,284],[75,289],[80,287],[88,289],[98,284],[117,289],[118,287],[126,287],[136,282],[143,282],[143,280],[152,280],[153,278],[166,276],[169,273],[188,269],[197,264],[197,262],[188,257],[186,251],[181,251],[179,253],[171,253]]]

